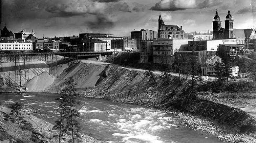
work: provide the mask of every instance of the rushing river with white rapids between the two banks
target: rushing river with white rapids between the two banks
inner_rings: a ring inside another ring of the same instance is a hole
[[[34,116],[52,124],[58,118],[55,101],[59,94],[26,92],[1,93],[1,103],[9,106],[14,101],[25,103],[25,109]],[[81,132],[99,140],[114,143],[216,143],[216,136],[195,131],[180,117],[156,108],[112,102],[103,99],[82,98],[79,106]]]

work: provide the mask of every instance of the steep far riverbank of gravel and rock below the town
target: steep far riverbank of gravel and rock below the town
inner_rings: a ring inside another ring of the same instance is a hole
[[[157,107],[183,118],[185,121],[181,125],[225,141],[256,142],[252,116],[237,108],[202,99],[197,94],[190,96],[185,82],[178,76],[82,60],[63,71],[51,86],[40,92],[60,93],[65,87],[65,79],[70,76],[77,81],[80,96]]]

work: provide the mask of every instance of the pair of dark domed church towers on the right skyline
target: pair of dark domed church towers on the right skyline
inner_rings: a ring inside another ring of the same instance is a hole
[[[233,39],[234,37],[234,29],[233,29],[232,15],[230,14],[230,10],[228,8],[226,20],[225,20],[225,28],[222,28],[220,17],[218,15],[218,11],[216,9],[215,17],[213,18],[213,39]]]

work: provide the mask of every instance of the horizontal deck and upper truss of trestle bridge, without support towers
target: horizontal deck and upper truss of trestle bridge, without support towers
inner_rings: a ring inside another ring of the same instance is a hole
[[[25,61],[46,61],[47,57],[55,58],[55,60],[77,60],[79,56],[107,56],[113,52],[60,52],[60,53],[8,53],[0,54],[0,63],[15,62],[17,59]],[[65,57],[65,58],[63,58]]]

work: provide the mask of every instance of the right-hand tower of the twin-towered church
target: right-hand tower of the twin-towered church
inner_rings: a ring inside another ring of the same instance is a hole
[[[225,34],[224,37],[225,39],[232,39],[234,38],[233,35],[233,20],[232,20],[232,15],[230,14],[229,8],[225,20]]]

